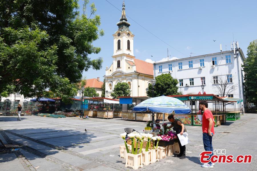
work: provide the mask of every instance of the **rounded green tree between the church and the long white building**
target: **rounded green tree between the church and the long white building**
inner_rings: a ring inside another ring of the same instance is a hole
[[[156,83],[154,86],[154,97],[161,95],[179,95],[178,92],[178,80],[172,78],[170,74],[161,74],[155,78]],[[152,97],[152,84],[148,86],[147,95]]]

